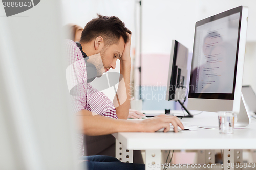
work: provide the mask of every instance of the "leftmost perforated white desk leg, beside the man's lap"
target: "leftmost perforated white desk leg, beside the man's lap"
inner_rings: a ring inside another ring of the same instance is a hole
[[[133,150],[127,150],[121,142],[116,139],[116,158],[121,162],[133,163]]]

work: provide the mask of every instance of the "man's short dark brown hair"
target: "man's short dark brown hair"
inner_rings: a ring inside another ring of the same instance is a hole
[[[98,18],[92,19],[84,27],[80,42],[87,43],[101,36],[106,46],[118,43],[120,37],[123,37],[126,43],[128,41],[126,32],[131,34],[118,17],[98,14]]]

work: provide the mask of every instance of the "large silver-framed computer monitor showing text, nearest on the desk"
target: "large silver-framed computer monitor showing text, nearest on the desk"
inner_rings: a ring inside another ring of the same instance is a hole
[[[196,22],[188,109],[243,112],[240,126],[249,124],[241,102],[247,19],[239,6]]]

